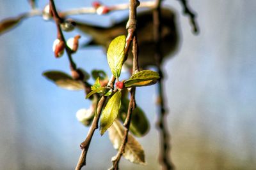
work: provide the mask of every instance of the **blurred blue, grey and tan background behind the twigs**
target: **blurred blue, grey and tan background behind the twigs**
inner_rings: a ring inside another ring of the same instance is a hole
[[[61,10],[91,3],[56,0]],[[29,10],[26,1],[0,0],[0,4],[1,20]],[[40,8],[45,4],[47,1],[38,1]],[[190,0],[189,4],[198,14],[198,36],[191,33],[179,1],[164,1],[164,6],[177,11],[181,37],[179,52],[164,62],[172,160],[177,169],[256,169],[256,2]],[[108,26],[127,13],[80,18]],[[67,57],[54,58],[54,39],[55,25],[40,17],[29,18],[0,36],[0,169],[76,166],[79,144],[88,132],[76,120],[76,111],[89,108],[90,101],[83,92],[60,89],[42,77],[49,69],[69,73]],[[104,67],[111,73],[101,47],[83,48],[74,59],[86,71]],[[140,88],[136,95],[151,124],[147,136],[138,139],[147,166],[122,159],[120,167],[160,169],[154,128],[156,86]],[[108,169],[115,153],[108,134],[100,137],[96,131],[86,169]]]

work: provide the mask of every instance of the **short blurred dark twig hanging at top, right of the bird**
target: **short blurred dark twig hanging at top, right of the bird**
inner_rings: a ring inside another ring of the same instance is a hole
[[[189,6],[188,6],[188,3],[187,3],[187,0],[178,0],[180,1],[180,3],[182,4],[183,6],[183,13],[184,15],[188,15],[189,17],[189,21],[193,27],[193,32],[195,34],[197,34],[199,32],[199,27],[198,27],[198,24],[196,23],[196,14],[195,12],[193,12]]]

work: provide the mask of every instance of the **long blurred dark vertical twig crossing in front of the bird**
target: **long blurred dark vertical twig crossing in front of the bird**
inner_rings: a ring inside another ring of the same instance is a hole
[[[157,127],[159,129],[160,136],[160,153],[159,162],[163,170],[174,169],[174,166],[170,159],[170,134],[168,132],[168,127],[166,124],[166,108],[164,106],[164,95],[163,95],[163,72],[161,70],[161,59],[163,54],[161,52],[161,0],[156,1],[157,7],[153,13],[154,21],[154,41],[156,44],[155,59],[157,62],[157,69],[160,75],[158,82],[158,97],[159,97],[159,113],[157,120]]]

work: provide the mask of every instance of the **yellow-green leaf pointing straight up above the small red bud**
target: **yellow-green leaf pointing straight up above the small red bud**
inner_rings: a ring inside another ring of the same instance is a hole
[[[111,41],[108,48],[108,64],[112,74],[118,78],[124,63],[125,36],[118,36]]]

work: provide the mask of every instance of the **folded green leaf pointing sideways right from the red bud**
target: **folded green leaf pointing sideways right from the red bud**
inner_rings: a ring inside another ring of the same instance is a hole
[[[125,87],[141,87],[153,85],[159,78],[159,74],[156,71],[143,70],[133,74],[129,80],[124,81],[124,85]]]

